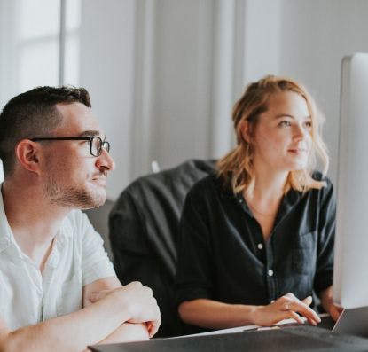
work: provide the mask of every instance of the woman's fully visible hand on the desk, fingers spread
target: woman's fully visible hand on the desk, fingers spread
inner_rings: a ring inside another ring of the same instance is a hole
[[[321,319],[317,313],[309,308],[312,298],[309,296],[304,300],[298,300],[293,293],[278,298],[278,300],[267,306],[259,306],[254,310],[254,324],[262,326],[270,326],[281,320],[292,318],[298,323],[303,323],[301,316],[306,317],[309,324],[317,325]]]

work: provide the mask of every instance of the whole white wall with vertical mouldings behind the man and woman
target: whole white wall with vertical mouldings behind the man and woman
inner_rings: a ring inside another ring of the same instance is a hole
[[[0,0],[2,103],[15,89],[7,19],[18,3]],[[317,99],[334,180],[341,59],[368,51],[367,14],[365,0],[82,0],[80,84],[117,165],[108,197],[152,160],[223,155],[234,101],[264,74],[290,75]]]

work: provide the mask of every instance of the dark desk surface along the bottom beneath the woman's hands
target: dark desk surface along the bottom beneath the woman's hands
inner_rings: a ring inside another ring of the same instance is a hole
[[[153,339],[116,345],[95,346],[95,352],[217,352],[217,351],[366,351],[368,339],[341,335],[310,325],[262,331],[228,332]]]

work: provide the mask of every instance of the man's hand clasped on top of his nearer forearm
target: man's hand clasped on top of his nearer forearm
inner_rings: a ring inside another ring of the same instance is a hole
[[[113,290],[91,293],[90,302],[103,300],[110,295],[114,296],[117,306],[129,311],[129,323],[145,323],[150,337],[159,330],[161,314],[151,288],[143,286],[140,282],[131,282]]]

